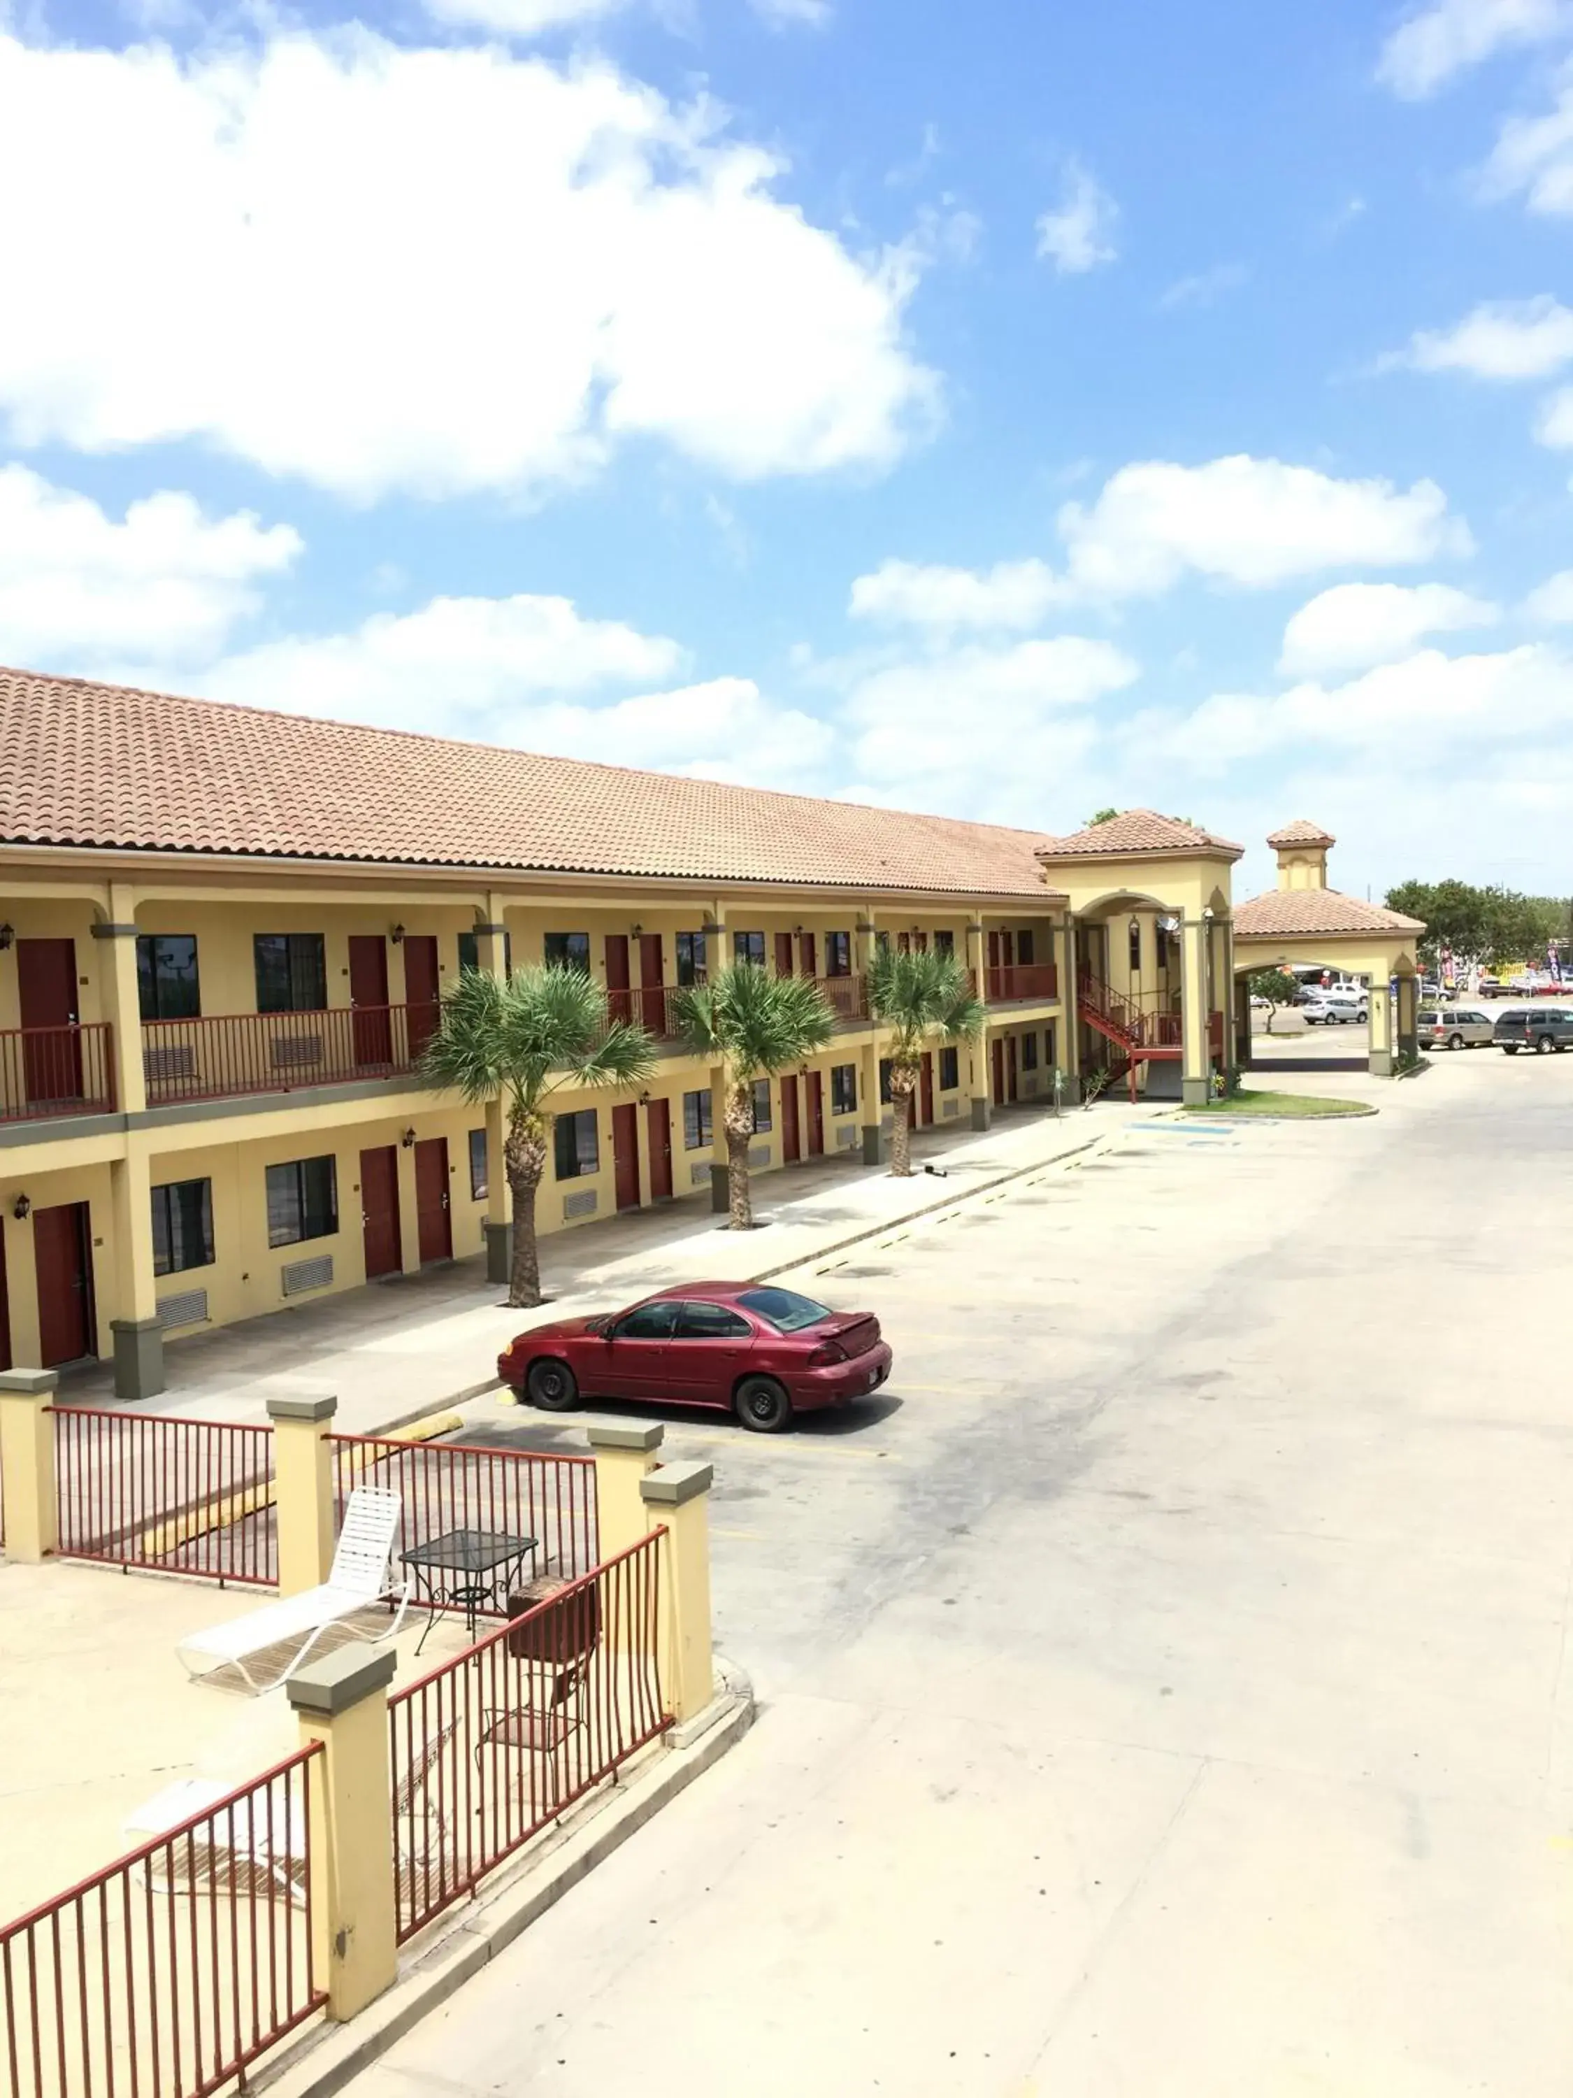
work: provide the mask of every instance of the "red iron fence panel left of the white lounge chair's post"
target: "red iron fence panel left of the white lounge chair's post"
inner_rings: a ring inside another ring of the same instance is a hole
[[[273,1429],[55,1406],[65,1559],[277,1586]]]

